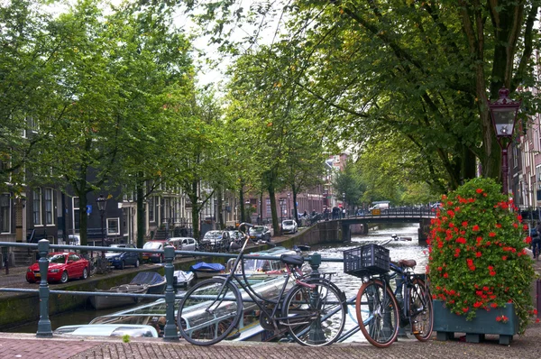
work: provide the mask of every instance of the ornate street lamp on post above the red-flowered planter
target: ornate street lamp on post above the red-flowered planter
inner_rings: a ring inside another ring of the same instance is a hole
[[[509,89],[501,87],[498,91],[498,98],[494,102],[489,102],[489,108],[491,109],[492,124],[494,124],[494,131],[496,132],[496,139],[501,148],[501,177],[503,184],[503,194],[508,194],[508,147],[510,139],[513,136],[515,129],[515,123],[517,122],[518,108],[522,100],[515,101],[509,98]]]

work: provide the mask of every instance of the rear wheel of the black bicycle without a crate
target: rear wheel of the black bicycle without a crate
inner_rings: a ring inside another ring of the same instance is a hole
[[[345,296],[332,283],[322,279],[305,281],[314,288],[295,285],[283,301],[280,324],[300,345],[323,346],[334,343],[344,330]]]

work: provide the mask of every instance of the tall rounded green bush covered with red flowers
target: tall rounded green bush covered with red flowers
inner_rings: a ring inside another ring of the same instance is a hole
[[[493,179],[472,179],[442,197],[433,220],[427,271],[434,299],[457,315],[515,305],[520,333],[533,315],[534,278],[522,218]],[[498,323],[494,323],[498,325]]]

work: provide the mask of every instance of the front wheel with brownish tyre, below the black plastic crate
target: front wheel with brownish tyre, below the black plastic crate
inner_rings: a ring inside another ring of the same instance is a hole
[[[399,304],[390,286],[382,281],[363,283],[355,301],[362,334],[380,348],[391,345],[399,335]]]

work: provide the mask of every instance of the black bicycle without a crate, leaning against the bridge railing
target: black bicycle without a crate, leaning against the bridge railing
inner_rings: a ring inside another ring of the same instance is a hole
[[[251,225],[243,223],[239,230],[243,226]],[[214,345],[240,335],[240,321],[255,315],[261,327],[276,336],[287,332],[300,345],[334,343],[344,330],[344,292],[325,274],[303,274],[302,256],[282,254],[280,261],[286,272],[280,275],[284,281],[275,284],[270,298],[264,298],[253,290],[244,272],[243,252],[249,235],[242,233],[243,246],[228,274],[197,283],[181,299],[177,315],[180,335],[193,345]],[[237,275],[239,265],[241,274]]]

